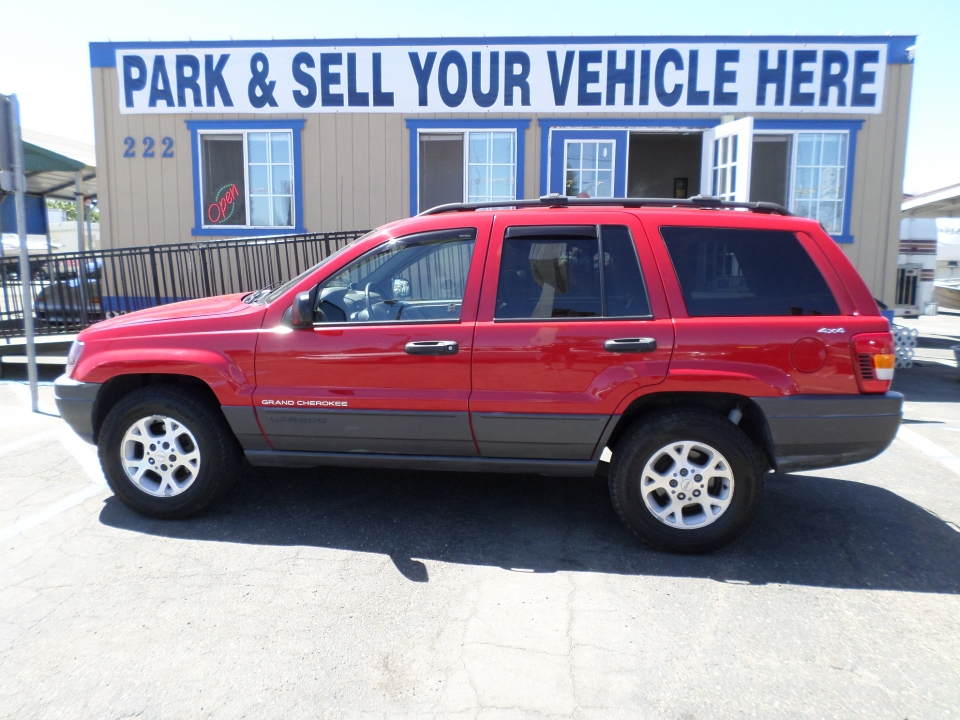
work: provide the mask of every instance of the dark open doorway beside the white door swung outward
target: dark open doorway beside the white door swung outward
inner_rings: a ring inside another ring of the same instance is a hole
[[[703,135],[630,133],[628,197],[688,198],[700,193]]]

